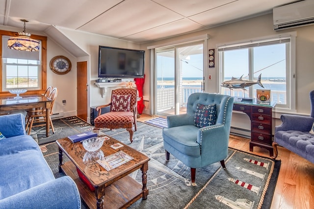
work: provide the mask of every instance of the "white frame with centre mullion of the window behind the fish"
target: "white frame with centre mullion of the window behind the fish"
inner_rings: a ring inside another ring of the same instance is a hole
[[[217,45],[217,51],[223,51],[224,48],[228,48],[231,49],[231,47],[233,49],[240,49],[241,46],[249,46],[246,47],[247,49],[251,49],[253,47],[255,47],[256,43],[267,43],[267,42],[271,42],[273,40],[280,40],[280,39],[289,39],[290,41],[289,43],[289,47],[286,47],[286,85],[287,85],[287,104],[282,105],[282,104],[277,104],[276,105],[276,111],[281,111],[281,112],[296,112],[295,109],[295,49],[296,49],[296,32],[290,32],[290,33],[284,33],[284,34],[280,34],[280,35],[272,35],[272,36],[266,36],[266,37],[259,37],[259,38],[255,38],[255,39],[250,39],[250,40],[243,40],[243,41],[238,41],[238,42],[232,42],[232,43],[224,43],[224,44],[219,44]],[[250,46],[252,45],[252,46]],[[220,93],[222,88],[220,86],[220,83],[222,82],[223,78],[224,78],[224,72],[223,72],[223,56],[221,55],[221,53],[218,52],[218,63],[217,63],[217,71],[218,71],[218,78],[217,78],[217,89]],[[249,66],[251,66],[251,59],[252,57],[249,57]],[[251,68],[249,69],[249,77],[251,78]],[[289,81],[289,82],[288,82]],[[252,87],[250,88],[250,97],[253,95],[252,94]]]

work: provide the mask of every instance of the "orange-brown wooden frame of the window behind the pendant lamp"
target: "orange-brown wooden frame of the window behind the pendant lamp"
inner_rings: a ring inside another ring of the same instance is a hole
[[[17,32],[0,30],[0,38],[2,40],[2,36],[18,36]],[[47,88],[47,36],[40,35],[31,35],[31,38],[37,39],[41,41],[40,51],[41,51],[41,69],[40,69],[40,77],[41,81],[39,83],[40,87],[36,90],[28,90],[25,94],[43,94]],[[31,52],[30,52],[31,53]],[[7,90],[3,90],[2,88],[2,77],[3,77],[3,68],[2,68],[2,41],[0,41],[0,96],[8,96],[11,95]]]

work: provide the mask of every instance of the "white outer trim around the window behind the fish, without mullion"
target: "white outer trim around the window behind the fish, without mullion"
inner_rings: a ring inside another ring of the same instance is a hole
[[[258,42],[268,42],[271,39],[278,39],[278,38],[290,38],[290,59],[287,57],[287,63],[290,65],[290,72],[287,72],[287,80],[290,80],[290,85],[287,83],[287,89],[290,90],[290,95],[287,96],[287,107],[277,107],[276,106],[276,112],[280,113],[295,113],[296,112],[296,104],[295,104],[295,99],[296,99],[296,31],[289,32],[289,33],[281,33],[278,35],[270,35],[270,36],[263,36],[263,37],[256,37],[252,39],[247,39],[247,40],[241,40],[241,41],[234,41],[234,42],[228,42],[228,43],[223,43],[223,44],[217,44],[216,49],[219,48],[224,48],[224,46],[240,46],[246,43],[258,43]],[[218,51],[218,50],[217,50]],[[287,54],[287,53],[286,53]],[[217,80],[216,80],[216,89],[218,89],[219,93],[221,93],[221,88],[220,88],[220,81],[223,78],[223,75],[220,71],[220,66],[222,66],[223,60],[221,59],[219,53],[218,53],[218,62],[217,62]]]

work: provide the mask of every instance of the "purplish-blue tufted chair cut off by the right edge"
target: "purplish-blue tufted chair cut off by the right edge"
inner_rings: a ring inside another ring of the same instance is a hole
[[[310,116],[281,115],[282,124],[275,127],[273,158],[278,156],[279,144],[314,163],[314,134],[310,132],[314,123],[314,90],[310,92],[310,102]]]

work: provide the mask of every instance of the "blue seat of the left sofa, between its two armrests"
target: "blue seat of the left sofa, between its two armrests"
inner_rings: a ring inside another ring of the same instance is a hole
[[[38,144],[29,135],[0,140],[0,200],[54,180]]]

